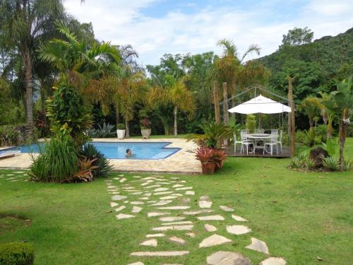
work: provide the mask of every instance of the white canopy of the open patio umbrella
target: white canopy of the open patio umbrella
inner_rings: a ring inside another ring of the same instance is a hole
[[[254,114],[254,113],[265,113],[265,114],[275,114],[282,112],[291,112],[291,108],[283,105],[280,102],[271,100],[270,98],[265,98],[263,95],[259,95],[249,101],[241,103],[236,107],[232,107],[228,112],[231,113],[241,113],[241,114]]]

